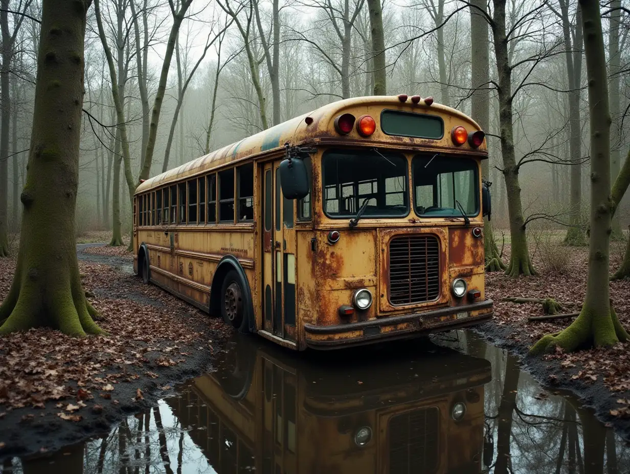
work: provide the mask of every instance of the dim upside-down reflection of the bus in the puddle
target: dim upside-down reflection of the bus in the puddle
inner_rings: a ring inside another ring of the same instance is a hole
[[[316,362],[242,349],[188,398],[167,399],[217,473],[481,472],[485,359],[433,346]]]

